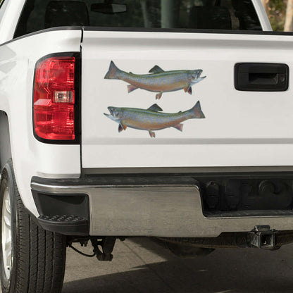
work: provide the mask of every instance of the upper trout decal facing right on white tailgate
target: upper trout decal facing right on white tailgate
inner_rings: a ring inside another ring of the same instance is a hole
[[[206,76],[201,77],[203,70],[172,70],[164,71],[158,66],[149,70],[151,74],[137,75],[126,73],[120,70],[113,61],[110,63],[106,80],[123,80],[130,83],[127,85],[128,92],[135,89],[146,89],[149,92],[157,92],[156,99],[160,99],[163,92],[174,92],[184,89],[185,92],[192,94],[192,85],[204,80]]]

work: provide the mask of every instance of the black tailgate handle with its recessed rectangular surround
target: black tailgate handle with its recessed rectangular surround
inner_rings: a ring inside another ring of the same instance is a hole
[[[285,92],[289,66],[281,63],[237,63],[235,89],[249,92]]]

